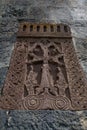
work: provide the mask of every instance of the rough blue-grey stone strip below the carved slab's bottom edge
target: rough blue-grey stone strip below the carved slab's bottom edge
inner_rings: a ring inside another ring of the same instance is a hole
[[[87,113],[0,111],[0,130],[87,130]]]

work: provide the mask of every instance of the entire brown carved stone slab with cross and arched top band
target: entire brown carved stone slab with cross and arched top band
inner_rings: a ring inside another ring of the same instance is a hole
[[[1,109],[87,109],[87,83],[70,28],[20,23]]]

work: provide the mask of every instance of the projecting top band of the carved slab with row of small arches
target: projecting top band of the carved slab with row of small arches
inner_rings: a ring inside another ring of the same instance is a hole
[[[71,37],[70,28],[64,24],[21,23],[18,37]]]

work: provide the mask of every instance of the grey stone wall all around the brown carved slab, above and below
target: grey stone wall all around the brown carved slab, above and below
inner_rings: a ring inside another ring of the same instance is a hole
[[[87,1],[86,0],[1,0],[0,1],[0,89],[9,67],[11,53],[16,41],[20,20],[31,22],[66,23],[71,27],[74,46],[79,61],[87,75]],[[27,113],[27,114],[26,114]],[[33,113],[33,114],[31,114]],[[39,113],[39,112],[38,112]],[[12,111],[8,119],[6,111],[0,112],[0,129],[40,129],[40,130],[86,130],[87,112],[40,112]],[[50,113],[50,114],[49,114]],[[55,114],[54,114],[55,113]],[[17,114],[17,115],[16,115]],[[61,116],[59,116],[59,114]],[[16,115],[16,116],[14,116]],[[54,117],[55,115],[55,117]],[[33,118],[34,116],[34,118]],[[46,117],[45,120],[40,119]],[[23,121],[22,121],[22,119]],[[45,124],[50,122],[51,125]],[[31,119],[32,118],[32,119]],[[73,118],[73,120],[72,120]],[[11,127],[7,127],[7,121]],[[39,124],[37,123],[39,120]],[[32,122],[29,123],[29,121]],[[61,123],[62,120],[62,123]],[[36,122],[36,126],[32,125]],[[67,122],[69,122],[67,124]],[[22,125],[23,123],[23,125]],[[29,124],[29,126],[28,126]],[[61,124],[61,125],[60,125]],[[14,128],[13,128],[14,126]],[[17,128],[16,128],[17,126]],[[55,127],[54,127],[55,126]],[[73,127],[72,127],[73,126]],[[23,128],[22,128],[23,127]]]

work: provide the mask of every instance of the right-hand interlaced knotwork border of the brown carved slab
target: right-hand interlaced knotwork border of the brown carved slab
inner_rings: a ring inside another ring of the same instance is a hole
[[[63,44],[63,43],[62,43]],[[87,81],[72,44],[72,41],[65,41],[63,44],[63,52],[66,62],[68,82],[71,92],[72,106],[75,109],[84,109],[87,107],[86,93]]]

